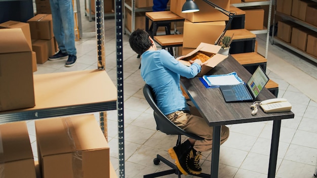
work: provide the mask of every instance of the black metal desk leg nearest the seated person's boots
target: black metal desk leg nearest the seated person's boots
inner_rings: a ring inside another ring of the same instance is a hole
[[[210,173],[210,177],[212,178],[218,177],[219,153],[220,153],[220,131],[221,131],[221,126],[214,126],[213,147],[211,152],[211,173]]]

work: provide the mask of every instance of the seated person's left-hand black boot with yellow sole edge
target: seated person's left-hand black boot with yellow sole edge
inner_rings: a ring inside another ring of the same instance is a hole
[[[181,171],[184,175],[188,174],[188,169],[186,166],[186,156],[188,152],[191,150],[191,144],[187,140],[181,145],[175,146],[168,150],[172,159],[175,159],[175,164],[179,171]]]

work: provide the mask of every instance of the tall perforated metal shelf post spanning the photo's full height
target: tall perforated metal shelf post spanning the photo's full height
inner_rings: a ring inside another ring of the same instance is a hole
[[[125,177],[124,94],[123,94],[123,8],[122,0],[115,0],[115,39],[117,72],[117,114],[119,177]]]

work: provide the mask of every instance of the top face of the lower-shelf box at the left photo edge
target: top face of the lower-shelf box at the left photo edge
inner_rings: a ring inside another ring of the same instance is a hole
[[[33,159],[30,139],[25,121],[0,124],[1,161],[11,162]]]

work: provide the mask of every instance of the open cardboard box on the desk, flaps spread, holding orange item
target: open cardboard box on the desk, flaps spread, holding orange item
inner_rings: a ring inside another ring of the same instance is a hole
[[[186,55],[185,58],[182,60],[179,60],[182,64],[190,66],[191,64],[189,63],[190,56],[197,53],[201,52],[204,53],[207,56],[212,56],[209,60],[207,60],[208,64],[202,66],[202,70],[197,76],[203,76],[207,72],[209,72],[212,68],[216,67],[217,64],[219,64],[221,61],[226,59],[228,56],[224,56],[221,54],[217,54],[220,50],[220,46],[213,45],[213,44],[208,44],[201,42],[200,45],[190,53]]]

